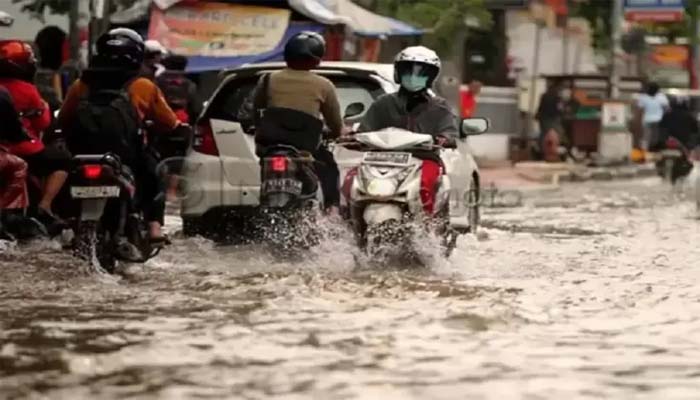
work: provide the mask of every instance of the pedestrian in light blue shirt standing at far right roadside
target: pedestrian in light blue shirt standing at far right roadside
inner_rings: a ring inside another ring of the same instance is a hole
[[[659,91],[656,82],[649,82],[644,93],[637,100],[637,108],[642,113],[642,140],[640,147],[644,152],[657,146],[660,139],[660,124],[670,105],[665,94]]]

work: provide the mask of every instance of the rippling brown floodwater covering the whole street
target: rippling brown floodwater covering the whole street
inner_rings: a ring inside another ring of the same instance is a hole
[[[485,210],[427,268],[180,239],[123,276],[0,254],[2,399],[697,399],[700,221],[655,179]],[[177,223],[177,221],[172,221]]]

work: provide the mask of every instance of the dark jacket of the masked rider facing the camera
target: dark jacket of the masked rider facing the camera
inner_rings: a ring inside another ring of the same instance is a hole
[[[415,95],[399,91],[380,96],[367,110],[359,130],[392,127],[433,136],[459,135],[456,114],[445,99],[430,91]]]

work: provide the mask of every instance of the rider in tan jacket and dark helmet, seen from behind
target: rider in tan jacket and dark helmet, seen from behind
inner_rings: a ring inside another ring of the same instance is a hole
[[[313,154],[326,211],[338,212],[340,172],[333,154],[321,144],[323,123],[327,138],[344,133],[340,102],[333,83],[311,72],[326,53],[326,42],[316,32],[293,36],[284,48],[287,68],[260,79],[253,92],[259,154],[266,146],[288,144]],[[323,121],[319,117],[323,117]],[[293,125],[293,126],[292,126]]]

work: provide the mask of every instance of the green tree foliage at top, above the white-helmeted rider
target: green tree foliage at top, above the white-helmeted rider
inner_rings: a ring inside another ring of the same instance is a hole
[[[355,0],[382,15],[426,29],[425,44],[448,55],[455,38],[468,33],[465,20],[477,21],[481,29],[491,27],[491,14],[483,0]]]

